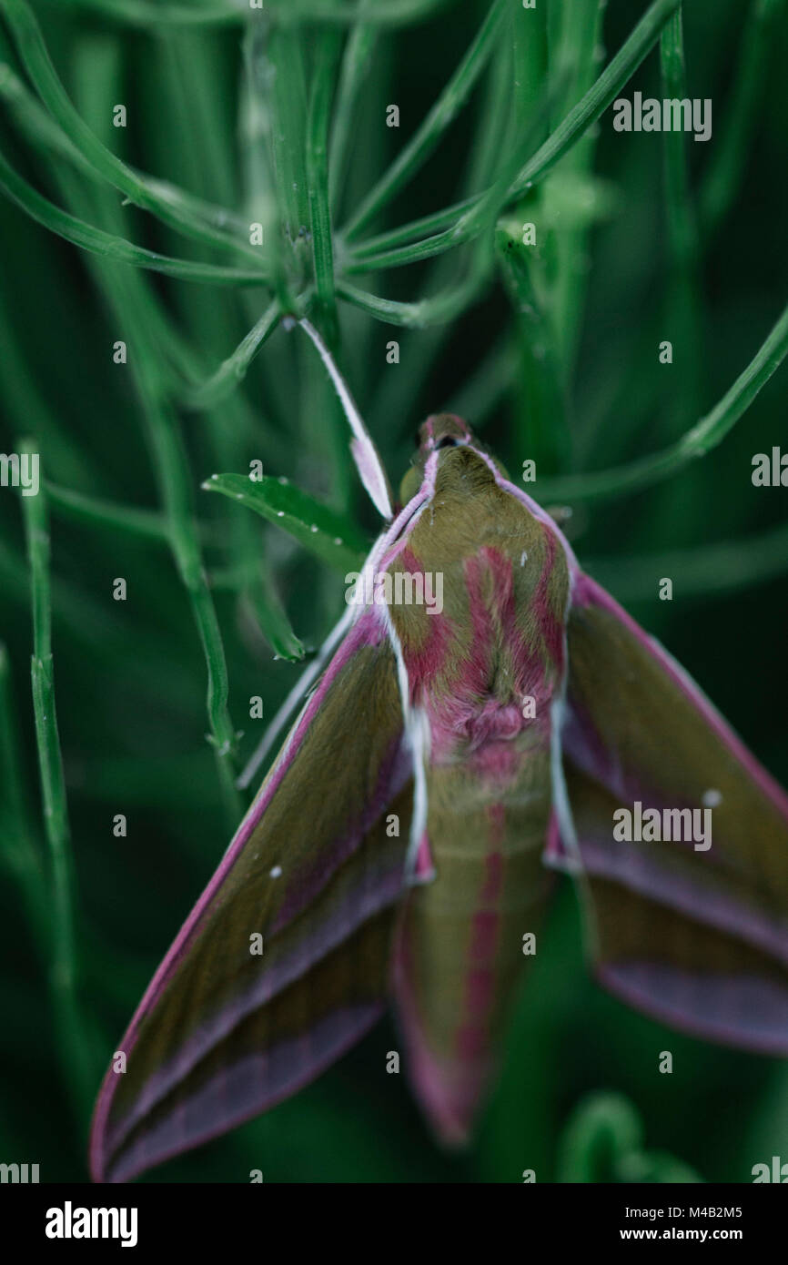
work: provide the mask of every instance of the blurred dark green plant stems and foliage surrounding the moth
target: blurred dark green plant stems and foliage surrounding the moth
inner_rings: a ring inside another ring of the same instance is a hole
[[[783,0],[687,3],[683,37],[674,0],[545,0],[536,16],[366,0],[358,24],[340,0],[230,8],[0,3],[16,200],[0,200],[0,449],[29,439],[46,479],[34,510],[0,490],[0,1159],[47,1182],[85,1179],[91,1085],[242,810],[249,698],[272,716],[288,659],[343,608],[336,524],[349,550],[376,530],[324,369],[282,314],[320,325],[395,484],[414,429],[448,407],[515,476],[534,458],[570,488],[581,559],[788,782],[784,492],[750,481],[784,439],[784,379],[636,497],[587,502],[582,478],[675,444],[780,316]],[[600,80],[622,47],[620,83]],[[713,102],[710,142],[613,132],[622,83],[659,96],[684,73]],[[202,491],[252,460],[304,514],[321,502],[321,557],[238,505],[231,478]],[[469,1152],[441,1154],[385,1074],[396,1041],[381,1023],[295,1099],[148,1180],[748,1182],[788,1155],[784,1066],[602,993],[567,883]]]

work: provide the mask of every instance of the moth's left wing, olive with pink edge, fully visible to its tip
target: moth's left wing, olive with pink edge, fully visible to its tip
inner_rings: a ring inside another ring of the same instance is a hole
[[[94,1120],[97,1179],[128,1180],[259,1113],[369,1027],[388,980],[411,774],[395,657],[369,608],[118,1047],[126,1070],[108,1073]]]

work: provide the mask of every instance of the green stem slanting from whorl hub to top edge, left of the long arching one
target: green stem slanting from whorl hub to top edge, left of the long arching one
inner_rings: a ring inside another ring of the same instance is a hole
[[[489,58],[505,11],[503,0],[495,0],[479,32],[454,75],[435,101],[416,133],[400,152],[391,167],[369,191],[343,231],[348,242],[411,180],[426,162],[449,124],[465,104],[471,90]]]

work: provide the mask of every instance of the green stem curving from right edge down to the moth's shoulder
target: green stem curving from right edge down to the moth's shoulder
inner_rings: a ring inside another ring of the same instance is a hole
[[[620,496],[641,487],[659,483],[668,474],[682,469],[689,462],[716,448],[725,439],[750,404],[769,381],[788,354],[788,307],[783,311],[766,340],[755,353],[746,369],[739,374],[731,388],[717,405],[678,443],[651,457],[610,471],[578,474],[560,479],[539,481],[539,500],[591,501]]]

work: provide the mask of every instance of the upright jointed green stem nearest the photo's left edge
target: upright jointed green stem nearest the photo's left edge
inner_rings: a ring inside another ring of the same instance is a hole
[[[24,440],[19,452],[34,452]],[[22,497],[24,511],[30,593],[33,600],[33,657],[30,676],[35,741],[44,806],[44,829],[52,864],[51,988],[65,1073],[75,1107],[82,1114],[91,1097],[91,1073],[85,1045],[85,1027],[77,1002],[75,947],[75,882],[63,762],[54,706],[52,659],[52,605],[49,592],[49,520],[46,492]]]

